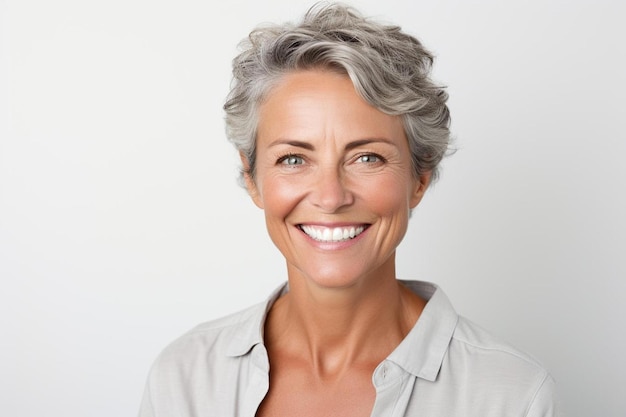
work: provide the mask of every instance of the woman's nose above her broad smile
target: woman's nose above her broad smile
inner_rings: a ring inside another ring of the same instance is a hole
[[[311,185],[311,203],[325,213],[335,213],[351,205],[354,194],[346,183],[345,175],[336,167],[320,168]]]

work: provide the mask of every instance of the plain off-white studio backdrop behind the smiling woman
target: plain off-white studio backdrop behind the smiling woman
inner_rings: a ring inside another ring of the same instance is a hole
[[[285,280],[221,107],[239,40],[311,4],[0,1],[0,415],[133,416],[166,344]],[[567,415],[623,417],[621,2],[351,4],[450,94],[399,277],[537,357]]]

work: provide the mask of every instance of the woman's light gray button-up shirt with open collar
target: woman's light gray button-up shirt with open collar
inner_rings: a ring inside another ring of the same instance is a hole
[[[382,361],[372,416],[555,416],[554,381],[533,358],[459,316],[434,284],[403,281],[428,300]],[[202,324],[155,361],[140,417],[253,417],[269,389],[264,303]]]

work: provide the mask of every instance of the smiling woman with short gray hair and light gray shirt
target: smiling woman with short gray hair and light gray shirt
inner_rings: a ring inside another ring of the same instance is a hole
[[[155,363],[141,416],[551,416],[553,380],[395,251],[448,148],[432,56],[339,5],[260,28],[225,105],[288,283]]]

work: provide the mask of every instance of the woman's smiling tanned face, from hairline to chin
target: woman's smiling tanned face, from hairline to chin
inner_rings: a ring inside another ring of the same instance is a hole
[[[416,179],[401,119],[361,99],[347,76],[286,76],[260,107],[248,189],[290,278],[323,287],[393,274],[428,184]],[[243,161],[246,164],[246,161]]]

